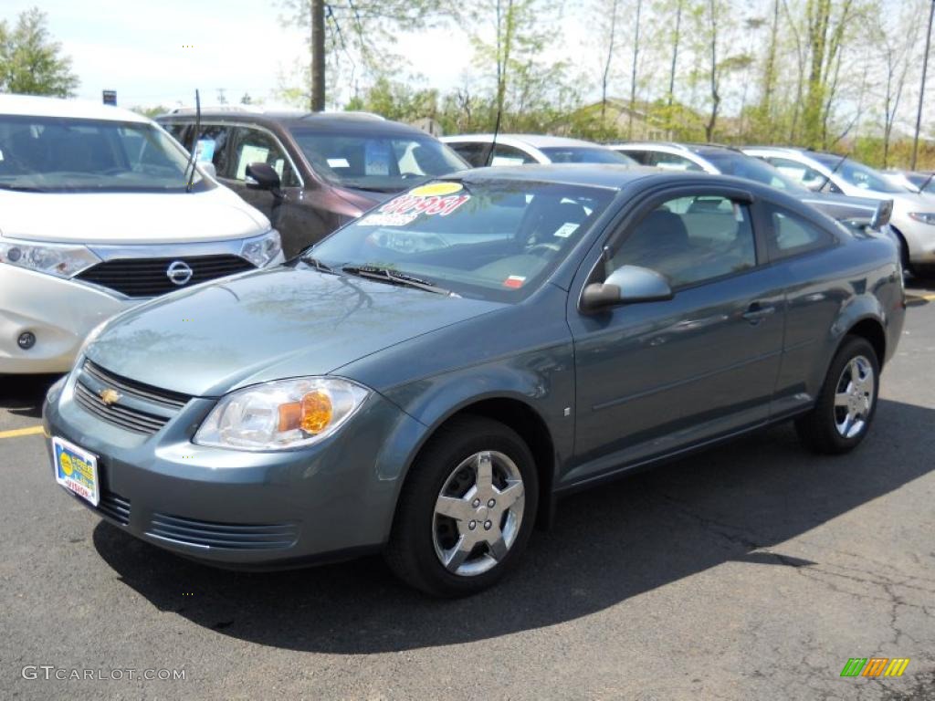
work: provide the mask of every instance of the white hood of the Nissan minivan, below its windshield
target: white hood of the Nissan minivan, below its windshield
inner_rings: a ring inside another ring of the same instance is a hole
[[[0,234],[31,241],[187,243],[268,229],[260,211],[220,186],[203,193],[0,191]]]

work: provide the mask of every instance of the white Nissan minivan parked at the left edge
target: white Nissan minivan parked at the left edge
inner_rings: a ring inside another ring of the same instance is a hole
[[[266,217],[188,161],[134,112],[0,95],[0,375],[63,372],[123,309],[281,263]]]

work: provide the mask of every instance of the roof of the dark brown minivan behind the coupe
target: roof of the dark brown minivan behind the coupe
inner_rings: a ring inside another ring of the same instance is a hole
[[[193,107],[180,107],[160,115],[157,122],[192,122]],[[251,106],[203,107],[201,119],[211,122],[250,122],[266,126],[281,124],[290,129],[308,128],[328,131],[360,131],[400,136],[428,136],[421,129],[383,119],[380,115],[369,112],[309,112],[305,109],[264,109]]]

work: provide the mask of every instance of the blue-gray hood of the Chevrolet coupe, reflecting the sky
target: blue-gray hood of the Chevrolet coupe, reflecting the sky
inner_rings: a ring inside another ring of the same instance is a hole
[[[218,396],[270,379],[326,375],[501,306],[282,266],[124,312],[86,355],[125,378]]]

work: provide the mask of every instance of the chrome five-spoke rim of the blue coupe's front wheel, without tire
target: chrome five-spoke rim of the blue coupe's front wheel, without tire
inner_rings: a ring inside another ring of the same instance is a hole
[[[441,564],[463,577],[495,567],[519,535],[524,506],[523,477],[507,455],[471,455],[453,469],[435,502],[432,543]]]

